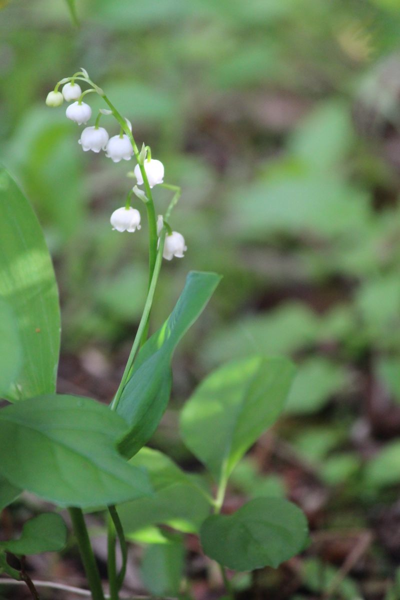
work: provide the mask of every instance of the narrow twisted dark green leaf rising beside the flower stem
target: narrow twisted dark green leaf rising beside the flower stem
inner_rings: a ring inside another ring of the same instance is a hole
[[[170,397],[173,352],[204,310],[219,280],[215,273],[190,272],[169,318],[140,350],[116,407],[130,424],[119,444],[125,456],[133,456],[157,429]]]

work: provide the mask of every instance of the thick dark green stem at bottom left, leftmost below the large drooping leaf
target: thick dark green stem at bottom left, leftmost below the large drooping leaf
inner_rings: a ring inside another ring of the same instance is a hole
[[[88,529],[86,529],[83,512],[80,508],[68,508],[71,521],[74,528],[74,533],[79,546],[80,556],[82,558],[83,567],[85,568],[86,577],[88,578],[89,587],[92,592],[93,600],[104,600],[103,588],[101,587],[100,574],[89,540]]]

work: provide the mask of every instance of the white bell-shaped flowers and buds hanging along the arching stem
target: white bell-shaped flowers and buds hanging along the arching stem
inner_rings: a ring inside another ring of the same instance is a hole
[[[86,93],[88,92],[83,92],[82,94],[80,85],[71,79],[71,81],[64,83],[61,92],[58,91],[58,86],[56,86],[55,90],[49,92],[49,94],[47,94],[46,104],[47,106],[56,107],[61,106],[64,100],[70,102],[71,104],[68,105],[67,110],[65,111],[67,118],[76,122],[78,125],[86,125],[92,116],[91,107],[89,104],[86,104],[82,101],[82,98]],[[100,110],[100,113],[112,114],[112,111],[102,109]],[[85,129],[82,130],[78,143],[82,146],[83,151],[88,152],[91,150],[92,152],[98,153],[103,150],[106,152],[106,157],[111,158],[114,163],[119,163],[121,160],[131,160],[134,150],[131,140],[127,134],[123,133],[121,130],[120,134],[109,137],[107,130],[98,125],[99,118],[100,115],[96,120],[95,125],[85,127]],[[127,124],[131,129],[128,121]],[[149,187],[153,188],[155,185],[163,183],[163,163],[161,163],[160,160],[151,158],[150,153],[149,157],[146,158],[146,151],[142,164],[138,163],[134,168],[134,175],[136,176],[138,185],[144,184],[143,169],[146,173]],[[146,199],[145,193],[140,192],[139,194],[139,190],[136,186],[133,188],[133,191],[138,197]],[[122,206],[122,208],[118,208],[113,212],[110,218],[110,223],[112,224],[113,230],[119,232],[134,232],[136,229],[140,229],[140,212],[136,208],[131,208],[129,205]],[[159,217],[157,221],[157,230],[159,236],[163,226],[163,217]],[[174,256],[182,258],[186,250],[187,247],[185,246],[185,239],[181,233],[176,231],[167,233],[163,250],[163,257],[165,259],[172,260]]]

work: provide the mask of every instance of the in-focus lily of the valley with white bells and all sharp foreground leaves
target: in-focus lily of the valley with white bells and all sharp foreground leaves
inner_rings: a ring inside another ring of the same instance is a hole
[[[104,101],[96,116],[89,104],[93,93]],[[0,173],[2,214],[9,221],[7,242],[0,241],[5,262],[0,312],[7,323],[0,341],[4,361],[0,394],[9,402],[0,410],[0,508],[23,490],[57,507],[28,521],[20,538],[0,542],[0,568],[8,578],[25,581],[37,600],[38,586],[26,573],[23,556],[62,550],[67,530],[61,508],[70,514],[94,600],[104,600],[106,593],[112,600],[120,598],[127,539],[144,548],[142,575],[150,593],[190,597],[183,576],[188,533],[198,535],[204,554],[219,564],[225,596],[233,598],[234,571],[276,568],[306,542],[302,511],[282,497],[250,498],[233,514],[224,514],[230,475],[282,412],[293,365],[276,356],[246,356],[222,365],[200,383],[182,410],[180,430],[185,445],[206,469],[201,477],[185,473],[166,455],[146,448],[169,403],[175,348],[200,316],[220,277],[190,272],[172,313],[149,336],[163,257],[182,258],[187,250],[184,235],[173,230],[171,221],[181,190],[164,182],[163,163],[152,157],[145,143],[139,150],[128,119],[84,69],[59,81],[46,103],[61,107],[65,101],[65,114],[74,122],[71,127],[83,126],[77,133],[82,151],[104,152],[104,160],[115,163],[135,162],[129,175],[136,181],[121,206],[110,206],[108,227],[110,235],[116,235],[112,230],[135,233],[133,243],[147,230],[148,290],[110,406],[92,398],[56,394],[59,308],[52,265],[27,200],[10,175]],[[158,187],[172,193],[164,213],[155,209],[153,194]],[[146,224],[137,209],[141,204]],[[29,303],[23,301],[28,291]],[[108,582],[101,580],[84,511],[104,515]],[[121,564],[116,561],[117,544]],[[15,563],[10,566],[10,554],[19,557],[20,568]],[[159,577],[157,565],[173,573]]]

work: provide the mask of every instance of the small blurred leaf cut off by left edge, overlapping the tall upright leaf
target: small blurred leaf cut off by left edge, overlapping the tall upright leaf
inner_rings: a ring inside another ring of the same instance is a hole
[[[0,396],[8,388],[20,369],[22,347],[19,340],[18,323],[13,310],[0,298]]]

